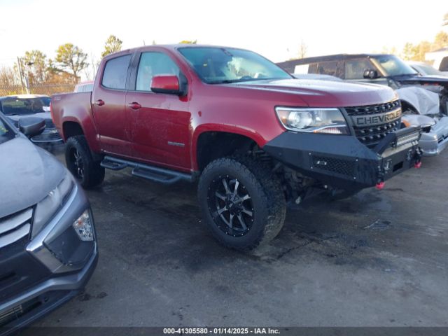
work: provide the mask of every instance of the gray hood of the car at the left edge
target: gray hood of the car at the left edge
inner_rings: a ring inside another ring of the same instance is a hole
[[[0,218],[43,200],[66,174],[64,166],[22,134],[0,145]]]

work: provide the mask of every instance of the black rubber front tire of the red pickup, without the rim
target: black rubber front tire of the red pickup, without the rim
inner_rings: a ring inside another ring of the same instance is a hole
[[[237,237],[218,228],[219,218],[214,218],[214,209],[210,206],[212,186],[226,176],[241,183],[253,205],[251,228]],[[204,223],[211,234],[224,246],[239,251],[253,250],[274,239],[286,217],[286,200],[278,177],[264,162],[246,156],[221,158],[209,163],[200,177],[198,198]]]

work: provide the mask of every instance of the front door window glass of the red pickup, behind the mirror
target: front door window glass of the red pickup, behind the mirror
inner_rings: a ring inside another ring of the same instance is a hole
[[[137,71],[136,90],[151,91],[153,77],[158,75],[179,76],[179,67],[163,52],[143,52]]]

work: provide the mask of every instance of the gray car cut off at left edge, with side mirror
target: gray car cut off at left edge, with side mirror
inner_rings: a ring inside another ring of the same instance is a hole
[[[0,113],[0,335],[31,323],[85,286],[97,263],[90,204],[78,183]]]

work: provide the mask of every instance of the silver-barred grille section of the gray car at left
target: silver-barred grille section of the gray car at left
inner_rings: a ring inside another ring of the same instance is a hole
[[[31,231],[33,209],[28,208],[10,216],[0,218],[0,248],[20,241]]]

